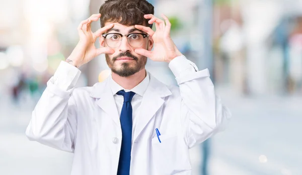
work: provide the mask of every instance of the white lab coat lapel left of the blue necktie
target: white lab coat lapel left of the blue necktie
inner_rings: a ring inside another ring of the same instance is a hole
[[[109,79],[107,78],[104,82],[95,84],[90,96],[96,98],[98,106],[101,107],[113,119],[118,128],[120,128],[120,118],[109,85]]]

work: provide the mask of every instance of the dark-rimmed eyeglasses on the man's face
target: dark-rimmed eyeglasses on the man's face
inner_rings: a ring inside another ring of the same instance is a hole
[[[149,35],[134,33],[128,35],[122,35],[119,33],[109,33],[102,35],[105,38],[107,46],[111,48],[117,48],[121,45],[123,37],[127,37],[127,41],[131,47],[138,48],[142,46],[143,39]]]

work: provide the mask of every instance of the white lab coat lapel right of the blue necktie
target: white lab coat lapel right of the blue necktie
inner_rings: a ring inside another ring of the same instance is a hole
[[[134,142],[136,142],[139,134],[164,104],[164,97],[172,94],[165,84],[157,80],[151,74],[149,75],[150,82],[143,94],[140,105],[140,114],[134,129]]]

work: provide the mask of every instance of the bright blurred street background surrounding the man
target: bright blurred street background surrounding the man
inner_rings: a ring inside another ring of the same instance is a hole
[[[153,0],[180,51],[208,68],[233,118],[191,149],[194,175],[302,174],[302,1]],[[72,154],[29,141],[25,129],[82,20],[103,0],[0,0],[0,174],[70,174]],[[93,23],[93,31],[100,28]],[[98,43],[97,43],[98,45]],[[80,86],[103,81],[104,56],[81,67]],[[147,70],[176,84],[166,63]]]

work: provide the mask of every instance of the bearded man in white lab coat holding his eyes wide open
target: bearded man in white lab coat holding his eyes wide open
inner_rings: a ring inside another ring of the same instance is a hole
[[[230,118],[208,70],[198,71],[179,52],[167,17],[164,22],[153,14],[145,0],[106,1],[100,14],[80,24],[78,45],[48,81],[26,134],[74,152],[71,174],[191,174],[189,148]],[[99,18],[102,28],[92,33],[90,24]],[[111,76],[74,88],[78,68],[100,54]],[[148,73],[147,57],[168,62],[179,87]]]

